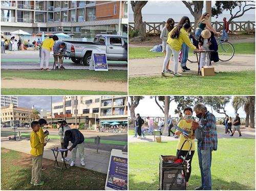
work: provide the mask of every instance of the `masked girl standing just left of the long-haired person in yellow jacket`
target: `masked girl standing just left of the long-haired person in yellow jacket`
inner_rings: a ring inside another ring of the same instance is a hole
[[[162,39],[162,46],[163,46],[162,52],[164,53],[164,56],[166,55],[166,44],[167,44],[168,33],[173,30],[174,23],[175,23],[174,19],[168,18],[168,20],[166,21],[165,26],[163,27],[163,30],[161,31],[161,34],[160,34],[160,38]],[[173,71],[169,69],[169,61],[165,67],[165,72],[170,73],[170,74],[173,73]]]

